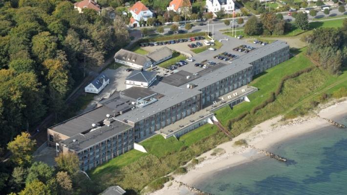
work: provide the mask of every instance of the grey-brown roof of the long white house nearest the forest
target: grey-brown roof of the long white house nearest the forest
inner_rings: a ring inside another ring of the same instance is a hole
[[[120,49],[115,55],[115,59],[123,60],[123,61],[128,61],[130,63],[138,64],[138,65],[144,65],[146,62],[151,61],[148,57],[141,55],[141,54],[136,54],[134,52],[125,50],[125,49]]]

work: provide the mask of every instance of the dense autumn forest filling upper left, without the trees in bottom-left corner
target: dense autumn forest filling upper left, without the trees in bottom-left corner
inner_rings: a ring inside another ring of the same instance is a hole
[[[0,147],[64,109],[88,67],[128,41],[124,19],[111,12],[79,14],[62,0],[0,2]]]

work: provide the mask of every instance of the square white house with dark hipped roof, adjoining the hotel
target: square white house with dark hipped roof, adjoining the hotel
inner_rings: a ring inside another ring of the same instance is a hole
[[[125,80],[127,89],[130,87],[148,88],[156,80],[156,72],[133,70]]]

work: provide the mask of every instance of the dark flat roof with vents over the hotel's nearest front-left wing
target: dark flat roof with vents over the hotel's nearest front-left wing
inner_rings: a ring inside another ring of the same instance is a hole
[[[108,139],[109,137],[127,131],[128,129],[131,129],[132,126],[118,120],[113,120],[110,125],[94,128],[95,130],[91,132],[86,134],[76,134],[68,139],[65,139],[64,141],[61,141],[60,143],[64,144],[69,150],[79,152],[89,148],[91,145]]]

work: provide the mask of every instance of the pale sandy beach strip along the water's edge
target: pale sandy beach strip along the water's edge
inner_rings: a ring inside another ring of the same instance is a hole
[[[291,121],[281,121],[281,116],[266,120],[252,128],[251,131],[235,137],[232,141],[218,145],[217,148],[222,148],[225,151],[224,154],[211,156],[213,151],[209,151],[198,156],[197,158],[205,159],[194,168],[189,169],[185,175],[174,176],[173,181],[167,182],[164,188],[151,195],[194,195],[188,188],[179,186],[176,181],[194,186],[194,183],[202,177],[264,156],[250,146],[267,150],[286,139],[331,126],[323,118],[335,120],[339,117],[347,117],[347,100],[329,102],[316,113],[316,117],[298,117]],[[235,146],[235,141],[240,139],[245,139],[248,146]]]

